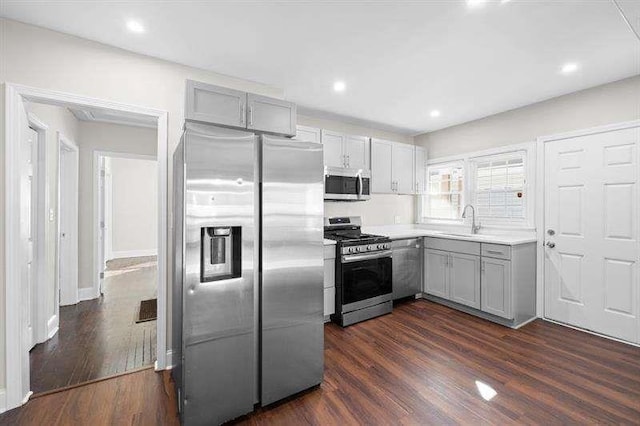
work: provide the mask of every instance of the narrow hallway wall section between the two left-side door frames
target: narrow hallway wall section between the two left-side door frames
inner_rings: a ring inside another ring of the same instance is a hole
[[[72,142],[78,143],[79,123],[69,110],[51,105],[36,103],[25,104],[27,111],[33,113],[40,121],[49,126],[46,130],[47,144],[47,164],[45,173],[47,176],[46,200],[47,211],[52,209],[57,216],[58,212],[58,133],[64,135]],[[57,220],[47,220],[45,229],[46,239],[46,271],[51,277],[47,283],[46,294],[44,296],[45,316],[51,318],[56,313],[56,281],[58,278],[56,233]]]

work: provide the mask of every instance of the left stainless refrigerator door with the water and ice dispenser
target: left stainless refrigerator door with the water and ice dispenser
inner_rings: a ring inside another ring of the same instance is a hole
[[[185,130],[186,425],[220,424],[253,410],[256,143],[246,132],[195,124]],[[228,242],[232,234],[237,238]],[[217,238],[230,245],[224,253]],[[229,256],[236,269],[224,269],[220,258]]]

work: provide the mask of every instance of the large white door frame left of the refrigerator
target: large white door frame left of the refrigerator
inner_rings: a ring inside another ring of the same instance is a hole
[[[87,96],[40,89],[20,84],[4,83],[5,147],[4,147],[4,247],[17,247],[20,240],[20,114],[24,101],[58,106],[83,106],[142,114],[158,120],[158,321],[156,370],[167,367],[167,235],[168,235],[168,113],[167,111],[91,98]],[[17,250],[4,250],[5,283],[5,409],[27,402],[31,395],[29,383],[29,352],[23,350],[24,336],[20,321],[20,256]]]

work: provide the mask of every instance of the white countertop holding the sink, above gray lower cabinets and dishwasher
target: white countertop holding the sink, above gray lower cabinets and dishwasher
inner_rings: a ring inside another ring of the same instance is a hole
[[[438,237],[451,240],[474,241],[479,243],[506,244],[510,246],[537,241],[535,232],[502,232],[500,234],[471,234],[468,231],[447,231],[428,229],[421,225],[382,225],[363,226],[362,232],[367,234],[386,235],[392,240],[417,237]],[[482,232],[482,231],[481,231]],[[450,233],[450,234],[449,234]],[[460,234],[460,235],[451,235]]]

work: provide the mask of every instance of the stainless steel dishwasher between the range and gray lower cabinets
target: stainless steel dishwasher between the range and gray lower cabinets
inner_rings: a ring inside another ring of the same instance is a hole
[[[422,238],[391,242],[393,251],[393,299],[415,296],[422,291]]]

